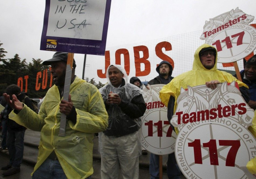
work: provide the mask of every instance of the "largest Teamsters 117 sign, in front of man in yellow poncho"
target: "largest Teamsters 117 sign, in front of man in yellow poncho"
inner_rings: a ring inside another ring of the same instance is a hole
[[[178,128],[175,156],[186,178],[246,178],[240,169],[256,156],[247,129],[254,117],[235,82],[181,88],[171,124]]]

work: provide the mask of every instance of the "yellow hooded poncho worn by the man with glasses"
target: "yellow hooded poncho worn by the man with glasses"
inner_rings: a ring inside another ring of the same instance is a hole
[[[232,76],[230,73],[217,70],[217,51],[216,51],[214,67],[211,68],[210,70],[207,70],[202,65],[199,58],[200,50],[207,47],[213,47],[213,46],[210,46],[208,44],[203,44],[195,51],[193,68],[191,71],[188,71],[188,72],[182,73],[181,75],[176,76],[173,80],[171,80],[170,83],[163,86],[162,90],[160,91],[160,94],[159,94],[160,99],[162,103],[164,103],[166,106],[168,105],[170,96],[173,96],[175,98],[174,111],[176,110],[176,105],[177,105],[176,101],[180,94],[181,87],[184,89],[187,89],[187,86],[194,87],[194,86],[205,84],[206,82],[211,80],[218,80],[221,83],[225,81],[227,81],[228,83],[231,83],[232,81],[236,81],[239,87],[243,86],[248,88],[248,86],[245,83],[242,83],[241,81],[236,79],[234,76]]]

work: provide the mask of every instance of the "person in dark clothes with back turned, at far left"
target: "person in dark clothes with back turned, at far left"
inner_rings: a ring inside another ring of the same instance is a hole
[[[21,88],[16,84],[11,84],[6,88],[6,93],[12,96],[15,95],[19,101],[24,100],[24,104],[33,109],[31,100],[26,97],[26,93],[21,91]],[[2,173],[3,176],[10,176],[21,171],[20,166],[23,160],[24,151],[24,135],[26,128],[9,119],[9,113],[13,110],[8,103],[3,110],[3,121],[7,124],[6,144],[9,150],[9,163],[2,166],[1,170],[6,170]],[[22,120],[26,120],[28,116],[23,116]]]

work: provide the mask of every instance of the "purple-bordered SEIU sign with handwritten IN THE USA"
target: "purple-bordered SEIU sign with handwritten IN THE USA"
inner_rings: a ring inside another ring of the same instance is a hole
[[[46,0],[40,50],[104,55],[111,0]]]

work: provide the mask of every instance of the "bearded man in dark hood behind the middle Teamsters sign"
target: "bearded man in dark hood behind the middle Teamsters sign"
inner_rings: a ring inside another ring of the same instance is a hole
[[[165,60],[162,61],[155,70],[159,75],[150,80],[147,84],[168,84],[173,79],[171,76],[173,67],[169,62]],[[151,179],[159,179],[159,155],[150,154],[149,171]],[[174,153],[168,155],[167,175],[168,178],[171,179],[179,179],[181,175],[181,170],[179,170]]]

